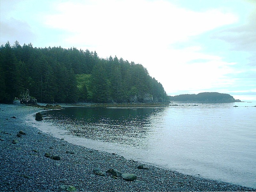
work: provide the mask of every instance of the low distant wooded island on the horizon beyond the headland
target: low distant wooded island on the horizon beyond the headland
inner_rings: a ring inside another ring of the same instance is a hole
[[[241,100],[235,100],[229,94],[218,92],[203,92],[198,94],[182,94],[176,96],[168,96],[170,101],[180,102],[241,102]]]

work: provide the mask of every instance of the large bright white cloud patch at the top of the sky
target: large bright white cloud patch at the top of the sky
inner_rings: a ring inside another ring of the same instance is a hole
[[[72,32],[64,39],[67,43],[108,45],[108,52],[115,52],[118,46],[166,48],[237,20],[230,13],[193,12],[166,1],[86,1],[55,6],[56,13],[44,18],[45,25]]]

